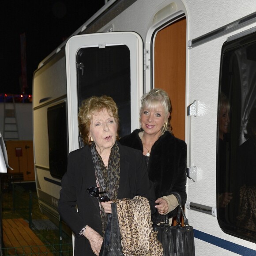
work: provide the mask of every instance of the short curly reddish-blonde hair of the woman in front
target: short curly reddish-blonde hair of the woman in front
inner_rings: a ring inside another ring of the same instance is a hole
[[[106,95],[101,97],[92,96],[83,100],[81,106],[79,107],[78,126],[79,132],[83,138],[83,143],[88,145],[91,144],[89,131],[92,115],[99,113],[103,109],[106,109],[109,115],[114,117],[117,123],[117,140],[119,139],[119,117],[117,104],[114,102],[113,98]]]

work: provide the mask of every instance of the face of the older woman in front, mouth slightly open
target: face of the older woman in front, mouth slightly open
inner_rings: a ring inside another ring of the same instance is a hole
[[[110,113],[112,115],[112,113]],[[111,149],[116,142],[117,123],[106,109],[92,115],[89,137],[95,142],[100,154],[104,149]]]

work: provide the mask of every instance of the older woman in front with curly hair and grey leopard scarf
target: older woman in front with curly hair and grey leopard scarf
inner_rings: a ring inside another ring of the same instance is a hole
[[[143,196],[153,200],[154,211],[155,195],[141,152],[116,141],[119,119],[112,98],[84,100],[78,120],[85,147],[68,156],[58,211],[75,233],[75,256],[99,255],[111,200]]]

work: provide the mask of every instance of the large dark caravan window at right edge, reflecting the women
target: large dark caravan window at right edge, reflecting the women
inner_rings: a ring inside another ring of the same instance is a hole
[[[222,47],[217,130],[217,216],[256,242],[256,33]]]

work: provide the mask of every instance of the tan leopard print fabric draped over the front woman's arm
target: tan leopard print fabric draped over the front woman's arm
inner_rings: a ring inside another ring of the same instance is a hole
[[[117,204],[117,216],[125,256],[162,256],[162,244],[153,230],[150,205],[142,196],[133,199],[113,200]]]

